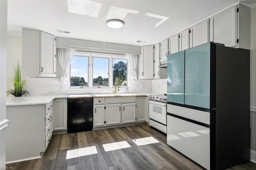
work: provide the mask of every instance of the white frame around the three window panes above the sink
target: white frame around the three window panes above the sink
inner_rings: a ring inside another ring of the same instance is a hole
[[[127,54],[111,54],[111,53],[93,53],[93,52],[84,52],[84,51],[75,51],[74,56],[86,56],[88,57],[88,87],[71,87],[70,86],[70,76],[71,76],[71,64],[69,67],[69,85],[68,89],[70,90],[112,90],[114,87],[113,83],[113,59],[127,59],[127,86],[120,86],[119,89],[126,89],[126,87],[129,87],[128,85],[128,55]],[[93,57],[102,57],[102,58],[108,58],[108,87],[100,86],[98,87],[93,87]]]

